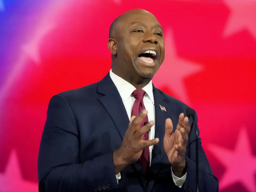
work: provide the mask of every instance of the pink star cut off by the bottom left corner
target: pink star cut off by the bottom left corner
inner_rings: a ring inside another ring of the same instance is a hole
[[[38,191],[38,184],[26,181],[22,178],[17,154],[12,151],[10,160],[4,173],[0,173],[1,192],[35,192]]]

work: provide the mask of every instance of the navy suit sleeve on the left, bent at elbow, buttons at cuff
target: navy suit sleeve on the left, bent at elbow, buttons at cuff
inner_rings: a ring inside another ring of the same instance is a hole
[[[38,157],[39,192],[93,192],[118,188],[113,154],[80,162],[78,126],[66,99],[51,98]]]

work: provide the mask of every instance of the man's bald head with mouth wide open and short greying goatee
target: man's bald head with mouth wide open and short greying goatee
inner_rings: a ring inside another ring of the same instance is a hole
[[[108,48],[116,75],[135,84],[148,81],[165,57],[163,29],[148,11],[127,11],[111,24]]]

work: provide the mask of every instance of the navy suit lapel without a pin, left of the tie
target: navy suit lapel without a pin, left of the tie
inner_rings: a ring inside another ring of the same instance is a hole
[[[129,117],[127,116],[122,98],[111,80],[109,73],[101,81],[99,81],[98,92],[105,95],[99,100],[108,111],[118,129],[121,138],[123,139],[123,135],[125,134],[125,131],[129,125]]]

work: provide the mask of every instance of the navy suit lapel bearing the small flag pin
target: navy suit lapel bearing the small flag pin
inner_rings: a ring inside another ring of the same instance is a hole
[[[158,173],[161,169],[161,164],[165,154],[163,149],[163,136],[165,135],[165,120],[167,118],[172,119],[171,107],[165,101],[165,97],[162,93],[153,86],[154,93],[154,106],[155,106],[155,136],[159,138],[159,142],[154,145],[152,151],[151,166],[149,169],[149,182],[147,191],[151,191],[154,186],[154,182],[158,177]],[[161,106],[165,107],[166,111],[161,110]]]

